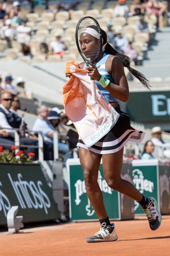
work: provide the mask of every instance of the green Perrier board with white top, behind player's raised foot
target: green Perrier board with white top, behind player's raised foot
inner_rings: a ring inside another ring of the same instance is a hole
[[[133,160],[133,184],[140,193],[154,197],[160,208],[160,187],[158,176],[158,160]],[[135,201],[135,215],[144,214],[140,204]]]

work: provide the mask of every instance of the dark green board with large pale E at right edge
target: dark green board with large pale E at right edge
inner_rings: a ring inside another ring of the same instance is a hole
[[[131,92],[126,112],[135,122],[167,122],[170,116],[169,101],[170,91]]]

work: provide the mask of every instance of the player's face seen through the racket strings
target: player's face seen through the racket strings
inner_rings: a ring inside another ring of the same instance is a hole
[[[99,47],[97,46],[99,40],[93,37],[91,34],[82,33],[79,37],[79,45],[82,53],[87,59],[95,59]]]

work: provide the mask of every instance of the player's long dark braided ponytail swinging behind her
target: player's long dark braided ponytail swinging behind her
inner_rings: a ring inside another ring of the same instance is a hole
[[[107,34],[106,32],[101,29],[101,33],[102,33],[102,38],[103,38],[103,45],[106,44],[107,42]],[[116,51],[110,44],[106,44],[106,47],[104,49],[104,52],[106,54],[111,54],[111,55],[116,55],[118,57],[120,57],[124,67],[127,67],[129,72],[131,72],[131,74],[133,74],[133,76],[135,76],[140,83],[142,83],[142,85],[150,90],[150,84],[149,84],[149,80],[146,79],[146,77],[144,76],[144,74],[140,73],[139,71],[137,71],[136,69],[132,69],[131,67],[131,58],[125,54],[121,54],[120,52]]]

